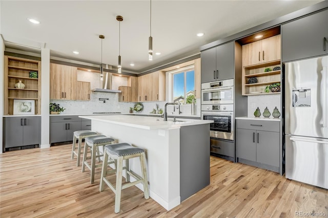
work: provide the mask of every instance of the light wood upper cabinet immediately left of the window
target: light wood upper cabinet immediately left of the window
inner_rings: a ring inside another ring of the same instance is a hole
[[[165,72],[154,73],[138,77],[138,102],[165,101]]]

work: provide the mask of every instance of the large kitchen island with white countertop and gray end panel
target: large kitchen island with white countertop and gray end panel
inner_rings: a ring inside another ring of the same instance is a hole
[[[80,116],[92,131],[145,149],[150,197],[170,210],[210,184],[209,120],[129,115]],[[138,159],[130,167],[141,175]],[[141,184],[136,185],[143,190]]]

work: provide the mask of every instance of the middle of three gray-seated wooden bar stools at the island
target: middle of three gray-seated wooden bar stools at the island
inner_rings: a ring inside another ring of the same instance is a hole
[[[115,139],[109,138],[104,135],[98,135],[98,136],[89,136],[85,138],[85,146],[84,146],[84,152],[83,152],[83,162],[82,162],[82,172],[85,171],[86,167],[88,167],[91,171],[91,184],[94,183],[94,171],[96,167],[101,166],[101,164],[96,165],[96,158],[98,158],[98,162],[100,162],[100,155],[99,155],[99,149],[98,146],[104,146],[107,144],[111,144]],[[90,148],[91,151],[91,157],[88,156],[88,148]],[[88,159],[91,159],[91,166],[87,162]],[[109,162],[108,164],[111,164],[114,162]]]

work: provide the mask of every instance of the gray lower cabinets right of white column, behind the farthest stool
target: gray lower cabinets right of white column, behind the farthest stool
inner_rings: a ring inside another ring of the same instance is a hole
[[[50,143],[73,141],[73,133],[91,130],[91,121],[78,116],[51,116]]]

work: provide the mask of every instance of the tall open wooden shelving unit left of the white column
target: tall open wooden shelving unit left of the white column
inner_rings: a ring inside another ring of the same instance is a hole
[[[37,72],[37,78],[30,72]],[[15,88],[19,80],[24,89]],[[34,100],[35,114],[41,114],[41,61],[5,56],[4,88],[4,115],[13,115],[14,99]]]

